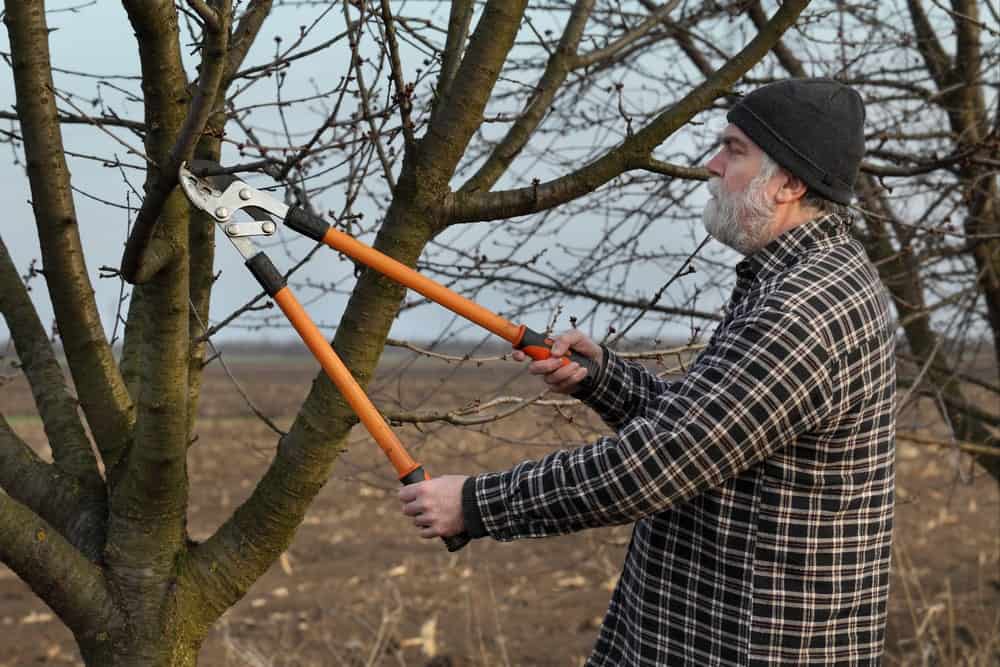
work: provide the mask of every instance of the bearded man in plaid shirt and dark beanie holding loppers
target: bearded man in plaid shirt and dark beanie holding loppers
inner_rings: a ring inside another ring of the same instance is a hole
[[[579,332],[600,363],[534,362],[614,437],[400,491],[423,537],[497,540],[636,522],[590,665],[874,665],[893,503],[893,328],[848,234],[864,107],[830,80],[760,88],[708,162],[705,225],[745,258],[682,379]]]

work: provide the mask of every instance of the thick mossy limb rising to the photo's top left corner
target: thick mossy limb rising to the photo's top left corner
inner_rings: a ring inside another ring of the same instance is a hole
[[[80,404],[110,465],[131,437],[131,399],[104,335],[83,259],[52,91],[43,3],[6,0],[7,30],[46,284]]]

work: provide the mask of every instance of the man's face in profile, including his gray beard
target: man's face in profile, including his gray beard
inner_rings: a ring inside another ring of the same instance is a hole
[[[734,250],[749,255],[772,240],[774,172],[762,169],[764,152],[735,125],[722,133],[719,152],[706,167],[712,173],[705,205],[705,229]]]

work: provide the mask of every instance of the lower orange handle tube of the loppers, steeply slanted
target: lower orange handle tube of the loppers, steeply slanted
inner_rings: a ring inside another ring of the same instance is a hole
[[[361,423],[368,429],[368,432],[371,433],[371,436],[378,443],[378,446],[382,448],[382,451],[385,452],[385,455],[389,457],[389,461],[396,469],[399,478],[403,479],[420,468],[409,452],[406,451],[406,448],[403,447],[403,443],[399,441],[396,434],[385,423],[379,411],[372,405],[371,400],[369,400],[368,395],[365,394],[361,385],[354,379],[351,372],[347,370],[347,366],[344,365],[344,362],[340,360],[337,353],[327,343],[319,327],[313,323],[312,318],[309,317],[309,313],[302,308],[302,304],[295,298],[291,290],[287,287],[282,287],[274,294],[273,298],[278,307],[281,308],[281,312],[285,314],[288,321],[299,332],[299,336],[302,337],[302,341],[306,344],[306,347],[309,348],[309,351],[316,357],[320,366],[323,367],[327,377],[337,385],[337,389],[340,390],[341,395],[347,400],[347,403],[354,410],[355,414],[358,415],[358,418],[361,419]]]

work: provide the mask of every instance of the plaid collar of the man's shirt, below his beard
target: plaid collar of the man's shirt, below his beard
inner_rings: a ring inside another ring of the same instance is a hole
[[[760,280],[794,266],[807,252],[842,243],[846,235],[847,222],[839,216],[829,213],[813,218],[744,258],[736,265],[736,274],[744,280]]]

